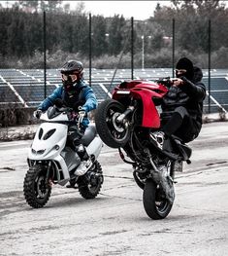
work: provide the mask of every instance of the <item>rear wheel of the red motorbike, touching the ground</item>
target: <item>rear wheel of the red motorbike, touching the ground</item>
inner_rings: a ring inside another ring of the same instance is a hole
[[[164,219],[171,211],[173,204],[162,193],[159,185],[147,179],[143,195],[144,207],[149,218]]]

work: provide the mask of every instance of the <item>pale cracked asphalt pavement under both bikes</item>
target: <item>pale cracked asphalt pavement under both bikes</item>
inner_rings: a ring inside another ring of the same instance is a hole
[[[176,201],[159,221],[147,217],[131,165],[106,146],[97,199],[55,185],[44,208],[31,208],[22,193],[30,144],[0,143],[0,255],[227,255],[227,122],[204,125],[189,143],[192,164],[177,174]]]

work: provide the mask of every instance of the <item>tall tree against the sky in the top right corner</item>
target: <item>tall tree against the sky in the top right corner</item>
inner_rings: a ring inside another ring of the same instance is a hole
[[[153,19],[162,25],[167,35],[171,36],[172,18],[175,18],[177,47],[193,53],[207,52],[209,19],[212,20],[212,50],[227,46],[228,15],[225,6],[219,0],[172,2],[173,7],[157,9]]]

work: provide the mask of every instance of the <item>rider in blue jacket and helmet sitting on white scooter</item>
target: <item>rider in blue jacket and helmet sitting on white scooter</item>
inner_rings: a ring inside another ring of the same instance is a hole
[[[62,75],[62,86],[55,89],[34,112],[37,118],[40,118],[42,112],[48,110],[49,106],[53,106],[56,99],[61,99],[67,107],[73,108],[76,111],[85,112],[81,122],[80,131],[74,128],[74,125],[69,128],[71,135],[68,136],[71,146],[76,150],[81,157],[81,165],[77,168],[76,175],[83,175],[88,166],[91,165],[91,160],[88,157],[83,145],[81,137],[85,129],[88,127],[89,120],[87,113],[97,107],[97,99],[92,89],[86,85],[83,80],[83,66],[80,61],[69,60],[60,70]],[[79,108],[80,107],[80,108]],[[73,122],[74,124],[74,122]]]

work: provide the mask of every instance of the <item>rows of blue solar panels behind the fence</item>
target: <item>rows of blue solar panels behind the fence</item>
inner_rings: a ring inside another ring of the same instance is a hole
[[[203,70],[203,82],[209,91],[208,71]],[[88,81],[88,69],[85,69],[84,79]],[[171,68],[135,69],[134,79],[156,80],[162,77],[172,77]],[[228,70],[211,71],[211,112],[219,108],[228,111]],[[99,102],[111,96],[114,87],[119,83],[131,80],[131,70],[92,69],[91,86]],[[61,85],[57,69],[47,70],[47,95]],[[207,91],[207,92],[208,92]],[[44,70],[42,69],[0,69],[0,107],[1,105],[16,104],[21,106],[38,106],[44,100]],[[204,111],[209,110],[209,96],[204,102]]]

